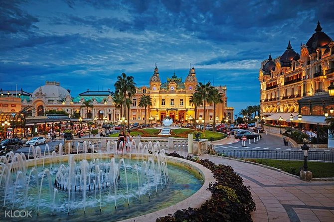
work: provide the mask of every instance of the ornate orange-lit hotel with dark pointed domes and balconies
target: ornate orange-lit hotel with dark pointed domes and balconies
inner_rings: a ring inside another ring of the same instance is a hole
[[[300,54],[289,41],[281,56],[272,59],[269,55],[261,63],[260,106],[266,119],[282,116],[290,121],[293,114],[296,120],[298,113],[324,115],[333,106],[327,91],[334,81],[334,41],[322,29],[318,21],[315,33],[306,44],[301,43]],[[308,123],[309,118],[303,121]]]

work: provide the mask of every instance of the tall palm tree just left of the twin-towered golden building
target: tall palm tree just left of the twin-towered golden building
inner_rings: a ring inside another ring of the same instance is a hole
[[[115,82],[115,91],[118,91],[120,94],[123,95],[123,107],[124,113],[126,113],[126,99],[127,97],[130,99],[136,93],[136,83],[134,82],[134,77],[127,76],[127,74],[122,73],[121,76],[117,77],[117,81]]]

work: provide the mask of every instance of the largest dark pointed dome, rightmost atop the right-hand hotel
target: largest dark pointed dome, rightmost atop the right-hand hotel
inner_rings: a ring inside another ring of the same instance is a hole
[[[308,47],[309,53],[317,53],[317,48],[325,48],[328,46],[330,42],[333,40],[330,36],[328,36],[325,32],[322,31],[323,28],[318,21],[317,28],[315,29],[315,33],[311,36],[309,41],[307,41],[306,45]]]

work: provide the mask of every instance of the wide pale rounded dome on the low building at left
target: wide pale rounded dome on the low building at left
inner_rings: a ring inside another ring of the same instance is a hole
[[[45,86],[37,88],[32,93],[32,97],[38,97],[38,95],[45,96],[47,100],[64,100],[66,96],[71,96],[70,93],[62,88],[59,82],[46,81]]]

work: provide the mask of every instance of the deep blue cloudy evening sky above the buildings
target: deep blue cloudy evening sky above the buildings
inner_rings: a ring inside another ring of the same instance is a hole
[[[0,0],[0,87],[32,92],[59,81],[72,96],[113,90],[122,72],[226,85],[236,112],[259,104],[261,61],[296,52],[317,21],[334,38],[334,1]]]

